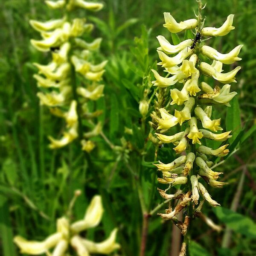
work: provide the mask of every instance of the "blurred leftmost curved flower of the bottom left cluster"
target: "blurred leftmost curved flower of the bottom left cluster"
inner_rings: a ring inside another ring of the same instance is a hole
[[[28,241],[21,236],[15,236],[14,242],[20,248],[21,253],[28,253],[30,255],[40,255],[46,253],[47,250],[54,247],[60,241],[61,233],[54,233],[48,236],[44,241]]]

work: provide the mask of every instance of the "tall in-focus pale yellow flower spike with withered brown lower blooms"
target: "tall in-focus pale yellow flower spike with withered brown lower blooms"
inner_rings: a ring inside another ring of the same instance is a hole
[[[212,105],[229,106],[230,100],[236,95],[236,92],[230,92],[230,84],[228,83],[236,82],[235,76],[241,67],[223,73],[222,66],[241,60],[238,54],[242,45],[235,47],[226,54],[220,53],[212,47],[206,45],[199,47],[199,45],[202,36],[227,35],[234,29],[234,26],[232,26],[233,17],[234,15],[229,15],[219,28],[203,28],[204,21],[201,20],[201,15],[198,15],[198,19],[177,23],[170,13],[164,13],[165,24],[163,26],[170,32],[177,33],[195,28],[197,38],[194,40],[187,39],[180,42],[180,44],[172,45],[163,36],[157,36],[160,43],[157,52],[161,60],[158,65],[162,66],[165,69],[164,72],[167,73],[166,76],[160,76],[156,70],[152,70],[155,77],[155,81],[152,83],[159,87],[157,99],[160,90],[163,90],[163,88],[167,90],[167,87],[179,83],[181,89],[172,88],[170,90],[171,99],[166,99],[165,102],[170,102],[170,105],[183,105],[181,110],[175,109],[174,115],[169,113],[169,106],[156,109],[151,114],[152,126],[158,130],[156,136],[159,139],[159,145],[172,143],[175,145],[173,149],[176,154],[183,153],[172,163],[159,162],[155,164],[158,170],[163,173],[163,178],[158,178],[160,183],[169,184],[169,188],[186,184],[183,192],[179,190],[174,195],[167,194],[168,189],[165,191],[158,189],[160,195],[165,199],[176,198],[181,200],[174,210],[167,209],[166,213],[159,214],[164,219],[172,219],[175,224],[177,223],[175,215],[184,207],[193,205],[193,209],[198,204],[200,194],[212,206],[219,205],[211,198],[203,185],[203,181],[199,180],[200,177],[213,187],[220,188],[225,184],[218,181],[221,172],[215,172],[211,169],[213,163],[209,160],[209,157],[226,156],[229,153],[228,144],[222,144],[221,147],[212,149],[202,145],[201,139],[222,142],[231,137],[231,131],[216,133],[222,131],[223,128],[221,128],[221,119],[211,119]],[[208,64],[201,61],[201,55],[207,57],[204,59],[212,59],[212,62]],[[202,80],[201,75],[212,77],[224,85],[222,87],[217,85],[212,88],[204,81],[200,81]],[[170,134],[169,129],[177,124],[184,124],[184,131],[174,135],[164,134],[166,131]],[[183,227],[183,234],[186,233],[184,223],[183,226],[179,224]]]

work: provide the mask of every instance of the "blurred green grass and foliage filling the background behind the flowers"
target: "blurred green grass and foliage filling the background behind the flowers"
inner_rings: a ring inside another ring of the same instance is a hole
[[[55,218],[67,211],[75,189],[83,191],[75,205],[75,219],[84,215],[93,195],[99,193],[103,198],[102,226],[89,231],[87,237],[101,241],[113,227],[119,227],[122,250],[116,255],[138,255],[143,220],[139,198],[144,195],[146,212],[163,202],[156,190],[157,171],[151,164],[156,160],[156,148],[147,140],[151,118],[148,114],[142,120],[139,101],[151,86],[150,69],[156,67],[156,36],[171,40],[162,26],[163,12],[171,12],[177,20],[189,19],[197,10],[196,1],[105,0],[105,8],[99,13],[76,14],[96,25],[91,37],[103,38],[99,54],[108,59],[105,96],[96,102],[102,110],[98,118],[104,128],[102,136],[95,139],[97,147],[89,160],[78,141],[55,151],[47,147],[47,135],[56,134],[63,124],[39,105],[32,78],[36,72],[32,63],[47,63],[49,55],[30,45],[30,38],[39,35],[29,26],[29,19],[48,20],[61,14],[49,10],[43,0],[0,0],[0,10],[2,255],[18,254],[12,244],[16,234],[40,240],[52,233]],[[223,125],[226,120],[227,130],[233,127],[235,134],[230,141],[233,154],[216,167],[224,172],[221,180],[230,185],[209,189],[222,207],[212,209],[205,204],[203,209],[227,228],[216,233],[201,220],[193,221],[189,247],[192,256],[256,255],[256,228],[252,221],[256,218],[256,1],[209,0],[204,10],[205,24],[218,27],[230,13],[235,14],[236,29],[225,37],[206,41],[220,52],[244,44],[239,55],[242,70],[236,76],[238,82],[231,86],[238,95],[227,113],[221,108],[214,113],[221,115]],[[149,97],[153,95],[151,89]],[[171,146],[157,150],[163,161],[174,158]],[[179,238],[170,221],[163,222],[154,214],[149,220],[145,255],[175,256],[180,249]]]

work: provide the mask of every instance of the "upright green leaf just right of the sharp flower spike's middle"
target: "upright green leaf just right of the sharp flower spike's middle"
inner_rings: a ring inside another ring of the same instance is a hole
[[[230,108],[227,108],[226,129],[232,130],[232,137],[229,139],[230,144],[236,139],[241,131],[240,109],[237,97],[230,101]]]

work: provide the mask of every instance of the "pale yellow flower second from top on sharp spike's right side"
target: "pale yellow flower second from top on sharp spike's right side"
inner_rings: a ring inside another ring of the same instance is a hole
[[[241,48],[243,47],[243,45],[239,45],[237,47],[235,47],[232,51],[230,51],[227,54],[221,54],[220,52],[218,52],[217,50],[215,50],[212,47],[209,47],[207,45],[204,45],[200,48],[200,52],[209,57],[212,58],[216,61],[221,61],[224,64],[232,64],[235,61],[241,61],[241,58],[238,57],[239,52],[241,50]]]

